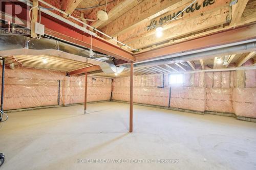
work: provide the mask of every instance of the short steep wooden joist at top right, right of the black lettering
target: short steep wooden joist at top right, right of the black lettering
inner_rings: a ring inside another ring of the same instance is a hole
[[[240,21],[248,1],[249,0],[238,0],[237,4],[231,6],[232,19],[230,25],[236,25]]]

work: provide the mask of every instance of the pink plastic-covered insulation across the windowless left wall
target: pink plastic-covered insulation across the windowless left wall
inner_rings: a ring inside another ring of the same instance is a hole
[[[111,79],[88,77],[88,102],[110,100],[110,96]],[[59,71],[6,67],[4,110],[83,102],[84,76],[67,77]]]

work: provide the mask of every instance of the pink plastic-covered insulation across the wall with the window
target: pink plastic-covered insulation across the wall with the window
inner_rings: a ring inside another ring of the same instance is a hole
[[[244,87],[238,86],[237,75],[238,71],[197,72],[184,74],[181,85],[170,85],[166,74],[164,86],[162,74],[135,76],[134,102],[256,118],[256,70],[245,70]],[[130,77],[114,79],[113,100],[129,102]]]

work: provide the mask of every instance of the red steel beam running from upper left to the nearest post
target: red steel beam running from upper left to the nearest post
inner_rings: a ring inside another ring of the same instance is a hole
[[[8,3],[14,4],[14,3]],[[26,9],[22,3],[19,3],[22,6],[22,12],[18,15],[18,19],[23,21],[29,21],[29,10]],[[3,5],[3,4],[2,4]],[[14,12],[5,11],[9,15],[14,16]],[[1,15],[3,17],[4,15]],[[16,15],[17,16],[17,15]],[[2,18],[5,19],[5,18]],[[13,22],[18,21],[13,19]],[[120,46],[110,43],[109,41],[101,37],[91,37],[91,35],[82,32],[65,22],[62,22],[56,18],[53,18],[45,13],[41,12],[41,24],[45,25],[45,34],[56,37],[74,44],[78,44],[84,47],[91,48],[91,38],[92,38],[92,49],[113,57],[119,58],[121,60],[131,62],[134,61],[134,56],[132,52],[126,51]]]

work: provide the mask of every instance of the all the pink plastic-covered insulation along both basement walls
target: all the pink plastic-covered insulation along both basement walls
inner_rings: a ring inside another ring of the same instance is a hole
[[[236,71],[184,74],[183,84],[172,86],[168,74],[164,78],[162,74],[135,76],[133,99],[141,104],[256,118],[255,70],[245,70],[244,88],[236,87],[236,75]],[[65,72],[7,67],[4,110],[57,105],[58,80],[60,105],[84,102],[84,76],[67,77]],[[111,82],[88,77],[88,102],[110,100]],[[112,99],[129,102],[130,77],[115,78],[113,84]]]

